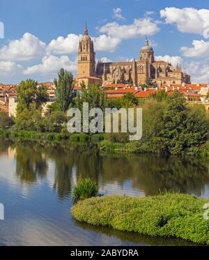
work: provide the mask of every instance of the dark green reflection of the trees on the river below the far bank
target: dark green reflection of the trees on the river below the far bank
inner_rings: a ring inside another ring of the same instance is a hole
[[[156,158],[136,155],[98,155],[97,151],[36,143],[1,142],[0,154],[15,149],[16,174],[24,183],[45,178],[49,160],[54,163],[54,185],[59,199],[69,197],[72,182],[91,177],[101,189],[109,184],[118,189],[140,190],[145,195],[174,190],[201,196],[209,183],[208,160]],[[75,169],[75,174],[73,174]],[[123,192],[122,192],[123,193]]]

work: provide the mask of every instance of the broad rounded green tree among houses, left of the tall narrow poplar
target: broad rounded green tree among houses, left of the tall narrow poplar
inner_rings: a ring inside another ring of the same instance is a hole
[[[38,82],[33,79],[26,79],[26,81],[20,82],[17,88],[17,96],[17,114],[24,109],[31,109],[33,103],[36,105],[36,109],[38,109],[49,99],[47,88],[45,86],[38,87]]]

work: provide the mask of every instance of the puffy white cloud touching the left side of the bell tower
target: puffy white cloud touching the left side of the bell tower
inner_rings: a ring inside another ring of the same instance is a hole
[[[67,54],[75,53],[78,50],[79,39],[81,36],[77,36],[74,33],[68,34],[66,38],[59,36],[56,40],[52,40],[47,51],[54,54]]]

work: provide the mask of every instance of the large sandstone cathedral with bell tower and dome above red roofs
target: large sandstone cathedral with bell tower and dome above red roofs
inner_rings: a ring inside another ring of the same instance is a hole
[[[100,85],[123,83],[140,86],[141,84],[181,84],[190,83],[190,76],[181,70],[180,65],[174,68],[167,61],[155,61],[153,47],[146,39],[139,52],[139,59],[133,61],[102,62],[95,64],[93,41],[88,35],[87,26],[84,36],[79,41],[77,84],[98,83]]]

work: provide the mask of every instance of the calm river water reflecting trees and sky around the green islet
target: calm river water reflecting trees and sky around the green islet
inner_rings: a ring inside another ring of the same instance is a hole
[[[192,245],[78,223],[71,192],[82,178],[103,194],[143,197],[165,190],[209,197],[208,160],[98,154],[33,142],[0,142],[0,245]]]

